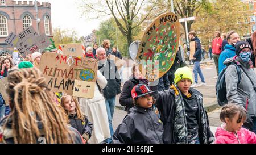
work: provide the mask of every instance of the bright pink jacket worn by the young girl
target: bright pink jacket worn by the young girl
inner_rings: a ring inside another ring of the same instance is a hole
[[[245,128],[240,131],[228,132],[223,127],[218,127],[215,133],[216,144],[256,144],[256,135]]]

